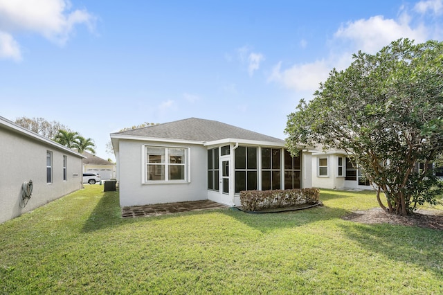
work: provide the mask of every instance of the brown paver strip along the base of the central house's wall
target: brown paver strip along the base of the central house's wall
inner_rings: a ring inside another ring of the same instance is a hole
[[[130,206],[122,208],[123,218],[147,217],[174,214],[188,211],[228,208],[228,206],[209,200],[194,202],[179,202],[168,204],[154,204],[145,206]]]

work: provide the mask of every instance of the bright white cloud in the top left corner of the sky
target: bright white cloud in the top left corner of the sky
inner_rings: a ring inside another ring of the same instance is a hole
[[[71,11],[68,0],[0,0],[0,30],[11,37],[21,32],[37,33],[63,46],[75,26],[84,24],[92,30],[95,21],[87,10]],[[0,46],[5,44],[2,41]]]

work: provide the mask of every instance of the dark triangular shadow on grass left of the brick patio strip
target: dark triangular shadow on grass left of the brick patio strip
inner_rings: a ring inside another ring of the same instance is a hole
[[[97,231],[120,225],[122,222],[118,192],[105,192],[84,223],[82,231]]]

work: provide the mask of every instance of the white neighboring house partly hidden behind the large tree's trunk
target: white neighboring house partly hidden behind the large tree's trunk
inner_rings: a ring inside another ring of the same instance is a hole
[[[352,166],[342,150],[312,151],[312,186],[314,188],[371,190],[361,170]]]

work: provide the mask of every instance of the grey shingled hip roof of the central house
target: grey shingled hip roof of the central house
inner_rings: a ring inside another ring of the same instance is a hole
[[[152,125],[114,133],[116,136],[143,136],[147,138],[168,138],[185,141],[219,141],[236,138],[247,141],[284,143],[282,139],[267,136],[215,120],[188,118],[170,123]]]

